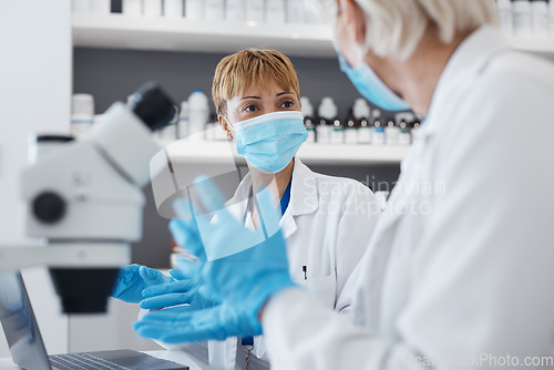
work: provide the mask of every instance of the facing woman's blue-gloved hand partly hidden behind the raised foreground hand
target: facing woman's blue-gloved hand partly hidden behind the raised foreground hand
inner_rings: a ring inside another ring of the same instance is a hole
[[[191,309],[202,309],[215,306],[215,302],[204,298],[199,288],[199,264],[179,259],[179,269],[170,270],[175,281],[160,284],[146,288],[142,295],[141,308],[160,309],[165,307],[188,305]]]

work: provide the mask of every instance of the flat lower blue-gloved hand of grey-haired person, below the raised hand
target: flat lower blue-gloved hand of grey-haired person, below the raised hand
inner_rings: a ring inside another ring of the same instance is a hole
[[[201,310],[181,306],[152,311],[135,322],[134,329],[142,337],[165,343],[224,340],[228,337],[250,337],[261,333],[258,320],[227,304]]]

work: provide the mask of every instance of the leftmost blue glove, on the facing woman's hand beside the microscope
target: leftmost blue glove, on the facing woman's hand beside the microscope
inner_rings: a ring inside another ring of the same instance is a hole
[[[156,269],[137,264],[125,266],[120,270],[112,297],[130,304],[138,304],[142,291],[154,285],[171,282],[174,279]]]

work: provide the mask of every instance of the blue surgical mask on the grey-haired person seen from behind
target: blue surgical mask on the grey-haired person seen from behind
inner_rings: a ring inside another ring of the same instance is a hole
[[[352,68],[342,55],[340,49],[337,45],[335,45],[335,49],[339,55],[340,70],[348,75],[350,82],[352,82],[363,97],[387,111],[408,111],[411,109],[410,104],[394,94],[379,79],[362,58],[360,58],[358,65]]]

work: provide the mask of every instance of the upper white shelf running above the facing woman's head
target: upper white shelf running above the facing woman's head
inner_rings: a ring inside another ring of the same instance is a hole
[[[335,58],[328,25],[268,24],[73,14],[73,45],[88,48],[232,53],[274,48],[287,55]]]

